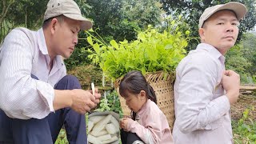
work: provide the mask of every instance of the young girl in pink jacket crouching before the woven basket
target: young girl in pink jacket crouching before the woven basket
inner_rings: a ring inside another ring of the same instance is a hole
[[[139,71],[131,71],[122,78],[120,95],[132,110],[132,118],[120,121],[123,144],[172,144],[173,138],[166,116],[156,105],[153,88]]]

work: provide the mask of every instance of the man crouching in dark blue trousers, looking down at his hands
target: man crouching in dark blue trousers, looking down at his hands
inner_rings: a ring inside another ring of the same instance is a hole
[[[62,60],[92,23],[73,0],[50,0],[40,30],[14,29],[0,53],[0,143],[54,143],[65,125],[70,143],[86,143],[87,111],[101,94],[82,90]]]

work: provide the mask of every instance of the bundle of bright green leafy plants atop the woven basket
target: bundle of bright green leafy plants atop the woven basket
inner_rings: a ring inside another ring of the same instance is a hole
[[[186,36],[190,32],[183,31],[175,22],[171,22],[168,29],[162,32],[148,26],[145,31],[138,31],[134,41],[111,40],[109,44],[90,31],[87,41],[94,50],[89,50],[89,58],[101,67],[106,77],[113,79],[122,77],[130,70],[139,70],[142,74],[159,70],[173,72],[186,55]]]

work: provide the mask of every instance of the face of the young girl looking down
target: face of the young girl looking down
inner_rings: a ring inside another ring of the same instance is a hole
[[[140,110],[146,103],[146,92],[144,90],[142,90],[139,94],[131,94],[128,92],[128,97],[125,99],[126,105],[130,108],[130,110],[137,113],[138,110]]]

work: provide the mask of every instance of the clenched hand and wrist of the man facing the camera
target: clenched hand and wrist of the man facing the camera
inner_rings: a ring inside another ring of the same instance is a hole
[[[226,97],[230,104],[238,101],[240,76],[233,70],[225,70],[222,74],[222,86],[226,90]]]

